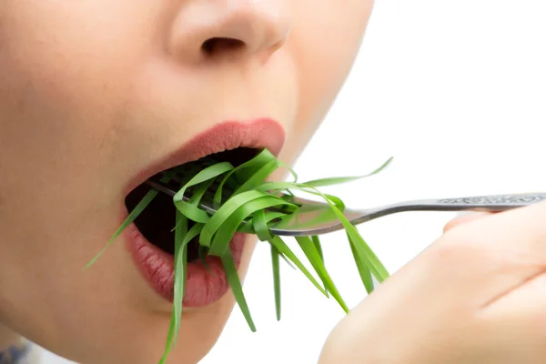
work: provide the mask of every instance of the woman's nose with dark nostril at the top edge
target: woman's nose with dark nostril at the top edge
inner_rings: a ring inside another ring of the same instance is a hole
[[[178,59],[257,56],[280,48],[292,25],[288,0],[194,0],[181,2],[167,43]]]

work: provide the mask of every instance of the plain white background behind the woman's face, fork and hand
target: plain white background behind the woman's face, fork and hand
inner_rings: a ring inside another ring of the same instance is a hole
[[[377,177],[328,191],[350,207],[546,191],[545,4],[378,0],[355,68],[298,161],[301,180],[364,174],[394,156]],[[404,213],[359,231],[395,272],[453,216]],[[343,233],[323,241],[327,267],[352,308],[365,291],[349,246]],[[236,306],[202,364],[317,362],[343,312],[300,273],[281,267],[282,320],[275,319],[268,245],[261,244],[245,284],[258,332]],[[65,361],[46,354],[44,363]]]

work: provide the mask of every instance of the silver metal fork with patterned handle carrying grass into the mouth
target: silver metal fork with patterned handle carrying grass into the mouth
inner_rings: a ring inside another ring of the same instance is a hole
[[[156,179],[148,179],[147,185],[158,191],[174,197],[176,191]],[[282,195],[280,195],[282,196]],[[270,231],[274,235],[288,237],[302,237],[327,234],[343,229],[339,218],[327,203],[311,201],[301,197],[291,197],[292,203],[299,206],[298,210],[288,219],[273,225]],[[188,200],[188,197],[184,197]],[[343,215],[353,225],[359,225],[374,218],[406,211],[489,211],[501,212],[517,207],[525,207],[541,201],[546,201],[546,192],[522,193],[508,195],[455,197],[420,199],[397,202],[382,207],[373,207],[361,210],[346,208]],[[217,210],[212,202],[204,198],[200,207],[209,214]]]

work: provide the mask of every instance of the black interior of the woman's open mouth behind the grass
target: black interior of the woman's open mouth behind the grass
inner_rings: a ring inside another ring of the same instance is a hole
[[[230,162],[237,167],[252,157],[258,154],[258,149],[239,147],[233,150],[217,153],[207,158],[214,158],[217,162]],[[192,162],[200,163],[202,159]],[[126,196],[126,207],[128,211],[132,211],[140,200],[146,196],[151,187],[142,184],[132,190]],[[175,187],[176,188],[176,187]],[[189,227],[192,226],[190,221]],[[174,255],[175,253],[175,233],[171,231],[175,227],[175,206],[173,198],[164,193],[157,194],[157,197],[144,209],[144,211],[136,217],[135,225],[138,227],[142,235],[147,240],[167,252]],[[198,255],[197,238],[192,240],[187,246],[187,261],[197,261]]]

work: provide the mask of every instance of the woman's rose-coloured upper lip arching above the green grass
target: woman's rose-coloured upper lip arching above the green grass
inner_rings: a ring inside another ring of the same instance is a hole
[[[250,122],[225,121],[194,136],[167,157],[140,171],[128,186],[127,193],[161,171],[238,147],[267,148],[278,157],[285,140],[284,128],[270,118]]]

